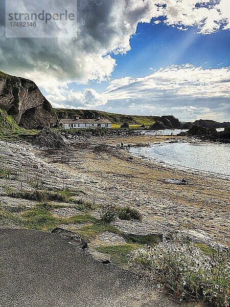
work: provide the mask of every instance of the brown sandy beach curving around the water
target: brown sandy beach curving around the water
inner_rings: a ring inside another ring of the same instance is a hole
[[[230,182],[192,171],[172,169],[137,158],[120,143],[150,144],[178,137],[137,136],[74,144],[71,149],[40,151],[42,159],[71,174],[87,200],[138,208],[144,221],[161,221],[172,229],[188,222],[230,246]],[[163,184],[161,178],[182,177],[188,186]]]

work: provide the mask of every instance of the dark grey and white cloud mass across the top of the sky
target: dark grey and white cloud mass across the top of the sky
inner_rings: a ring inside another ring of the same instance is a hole
[[[201,7],[196,7],[197,2]],[[198,26],[201,34],[213,33],[222,26],[229,29],[229,0],[207,7],[209,3],[207,0],[79,0],[76,39],[0,38],[0,67],[8,73],[31,78],[48,90],[49,82],[44,79],[59,86],[71,81],[102,81],[116,67],[116,60],[109,53],[129,51],[130,36],[137,24],[149,23],[152,17],[164,16],[165,24],[184,31],[189,26]],[[66,29],[58,31],[63,36],[61,31]]]

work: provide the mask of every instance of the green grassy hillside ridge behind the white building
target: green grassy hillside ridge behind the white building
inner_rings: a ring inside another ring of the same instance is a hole
[[[63,118],[63,114],[67,114],[69,118],[73,116],[79,116],[85,118],[86,115],[97,116],[100,115],[101,118],[106,118],[112,122],[114,125],[121,125],[123,123],[128,123],[131,125],[152,125],[159,118],[158,116],[142,116],[142,115],[124,115],[116,113],[108,113],[103,111],[93,111],[93,110],[82,110],[82,109],[55,109],[58,118]]]

